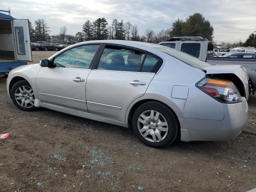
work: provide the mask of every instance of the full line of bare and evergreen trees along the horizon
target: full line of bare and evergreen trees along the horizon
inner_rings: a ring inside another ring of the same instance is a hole
[[[30,22],[30,38],[32,42],[50,41],[52,38],[58,39],[64,43],[64,40],[72,43],[88,40],[133,40],[150,43],[158,43],[166,40],[170,36],[202,36],[212,41],[214,28],[209,20],[206,20],[200,13],[195,13],[186,20],[178,18],[172,23],[170,28],[162,29],[156,33],[153,29],[148,28],[144,33],[139,34],[136,24],[130,21],[113,19],[110,24],[106,18],[98,18],[94,21],[87,20],[82,26],[82,31],[77,32],[75,36],[67,35],[67,28],[60,28],[58,35],[50,36],[50,27],[45,20],[38,19],[34,25]]]

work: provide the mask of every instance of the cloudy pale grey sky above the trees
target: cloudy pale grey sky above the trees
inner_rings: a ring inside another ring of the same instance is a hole
[[[185,20],[201,13],[214,27],[214,41],[242,42],[256,31],[256,0],[0,0],[0,9],[11,8],[11,15],[34,23],[44,19],[50,34],[82,31],[86,20],[105,17],[130,21],[143,35],[147,28],[156,33],[171,28],[177,18]]]

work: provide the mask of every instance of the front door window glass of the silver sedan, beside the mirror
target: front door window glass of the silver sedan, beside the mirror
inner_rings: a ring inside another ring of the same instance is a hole
[[[53,67],[88,69],[100,45],[74,47],[58,55]]]

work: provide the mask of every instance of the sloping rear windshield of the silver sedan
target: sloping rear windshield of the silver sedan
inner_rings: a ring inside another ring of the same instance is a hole
[[[171,49],[171,48],[168,48],[168,47],[165,47],[165,46],[159,46],[159,47],[155,47],[156,50],[159,50],[161,52],[164,52],[194,68],[204,68],[204,67],[210,67],[211,65],[206,63],[206,62],[203,62],[201,60],[199,60],[198,58],[196,57],[193,57],[189,54],[186,54],[184,52],[181,52],[181,51],[178,51],[178,50],[175,50],[175,49]]]

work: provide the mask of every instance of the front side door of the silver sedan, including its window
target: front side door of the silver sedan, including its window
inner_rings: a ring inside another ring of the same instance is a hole
[[[54,58],[52,68],[42,67],[36,77],[39,100],[87,112],[86,79],[99,47],[89,44],[71,48]]]

